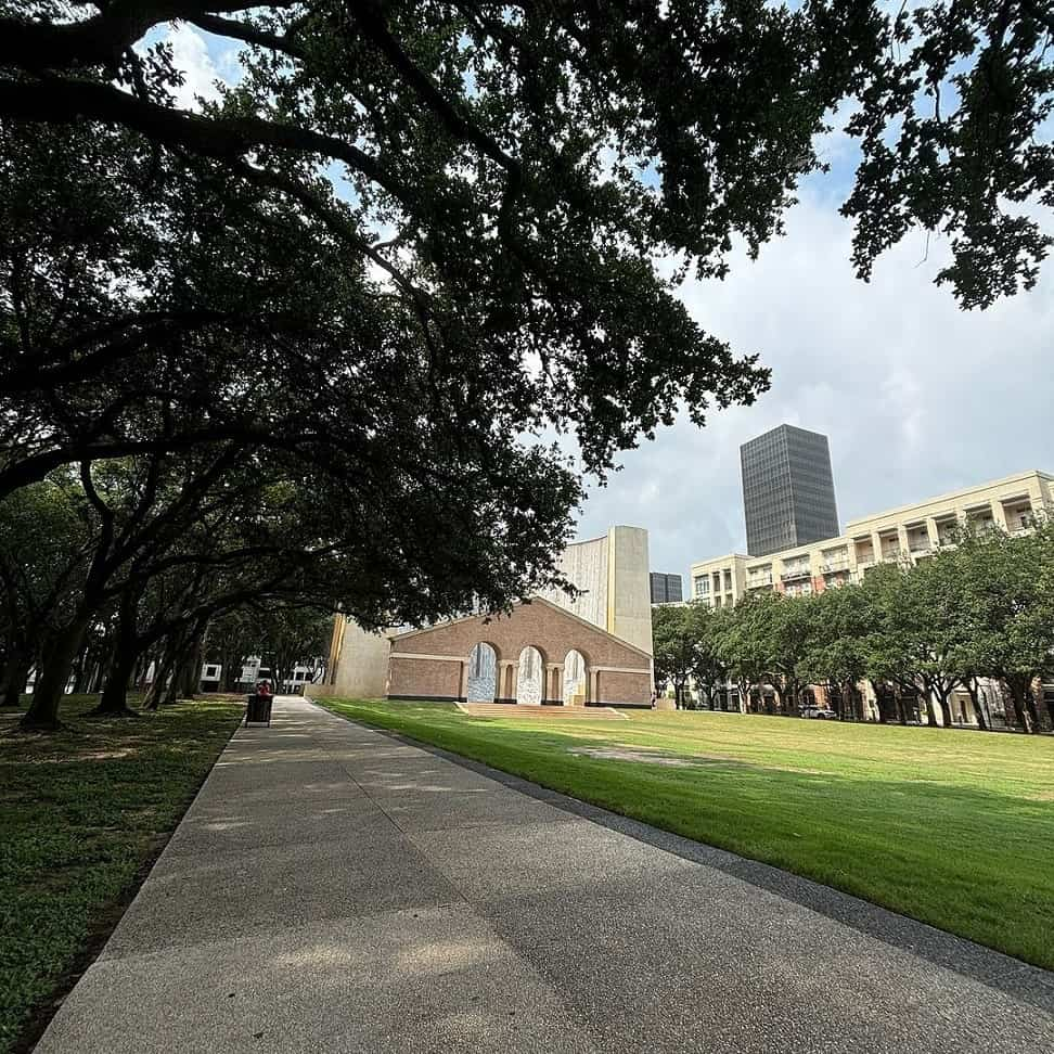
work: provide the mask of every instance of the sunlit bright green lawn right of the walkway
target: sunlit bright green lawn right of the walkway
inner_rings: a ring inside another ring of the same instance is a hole
[[[468,718],[327,700],[658,827],[1054,968],[1054,740],[731,714]],[[683,768],[576,755],[660,751]]]

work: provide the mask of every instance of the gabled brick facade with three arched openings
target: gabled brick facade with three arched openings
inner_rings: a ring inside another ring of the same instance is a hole
[[[651,705],[647,652],[541,597],[489,620],[477,615],[393,638],[388,698],[465,702],[470,656],[477,644],[494,652],[496,702],[517,702],[520,655],[534,647],[542,663],[543,705],[570,705],[564,698],[564,664],[573,651],[586,660],[586,705]]]

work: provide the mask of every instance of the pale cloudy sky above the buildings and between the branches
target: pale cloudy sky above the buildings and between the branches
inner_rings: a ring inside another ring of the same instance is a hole
[[[233,50],[187,26],[169,33],[188,73],[184,105],[235,75]],[[683,415],[625,453],[581,510],[579,538],[647,528],[652,569],[684,575],[685,589],[693,561],[746,551],[738,447],[784,422],[828,437],[843,527],[1015,472],[1054,472],[1054,261],[1031,293],[964,312],[933,284],[947,246],[927,252],[917,232],[865,284],[837,210],[853,150],[835,130],[820,152],[832,171],[804,182],[785,237],[757,261],[740,254],[723,282],[681,290],[704,329],[761,355],[771,389],[753,407],[715,410],[702,429]]]

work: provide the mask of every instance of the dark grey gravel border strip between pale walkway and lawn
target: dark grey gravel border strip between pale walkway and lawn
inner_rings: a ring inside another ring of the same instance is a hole
[[[313,706],[325,709],[313,700]],[[332,710],[326,712],[333,714]],[[561,794],[532,783],[522,776],[492,768],[481,761],[463,757],[442,747],[389,729],[376,728],[355,721],[343,715],[333,715],[349,724],[370,729],[387,738],[402,743],[485,775],[512,790],[544,801],[557,809],[574,813],[599,826],[607,827],[637,841],[681,857],[693,863],[712,867],[749,885],[764,889],[792,903],[799,904],[817,914],[833,918],[845,926],[873,937],[883,943],[924,959],[936,966],[994,988],[1014,999],[1029,1003],[1047,1014],[1054,1014],[1054,973],[1032,966],[1003,952],[986,948],[963,937],[937,929],[927,923],[900,915],[887,908],[841,892],[831,886],[782,871],[772,864],[740,857],[725,849],[693,841],[681,835],[653,827],[640,820],[632,820],[600,806],[590,805],[569,795]]]

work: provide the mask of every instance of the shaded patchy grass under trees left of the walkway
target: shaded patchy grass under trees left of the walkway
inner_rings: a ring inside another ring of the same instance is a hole
[[[64,729],[0,710],[0,1052],[39,1019],[105,936],[243,708],[183,703],[98,719],[67,696]]]

